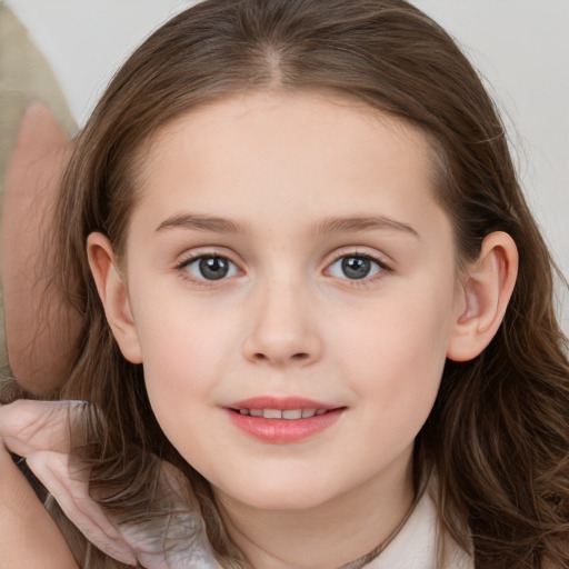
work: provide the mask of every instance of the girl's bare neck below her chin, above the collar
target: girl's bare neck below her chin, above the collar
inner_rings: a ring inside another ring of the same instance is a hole
[[[399,468],[308,509],[259,510],[214,490],[234,543],[258,569],[330,569],[387,540],[415,499],[411,456]]]

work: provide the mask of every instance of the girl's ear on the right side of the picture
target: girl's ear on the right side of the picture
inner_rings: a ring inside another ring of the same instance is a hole
[[[490,343],[506,313],[518,276],[518,249],[502,231],[488,234],[459,290],[459,310],[447,347],[455,361],[476,358]]]

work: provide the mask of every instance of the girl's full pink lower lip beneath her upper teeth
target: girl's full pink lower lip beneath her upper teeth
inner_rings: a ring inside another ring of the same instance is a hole
[[[342,415],[345,408],[333,409],[325,415],[315,415],[307,419],[264,419],[227,410],[232,423],[250,437],[272,445],[291,445],[331,427]]]

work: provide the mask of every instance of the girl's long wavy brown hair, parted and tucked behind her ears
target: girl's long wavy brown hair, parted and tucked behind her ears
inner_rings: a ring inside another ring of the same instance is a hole
[[[452,39],[405,0],[208,0],[154,32],[110,83],[77,140],[59,202],[61,286],[83,318],[63,397],[97,403],[92,485],[104,505],[142,516],[151,480],[140,456],[188,475],[226,567],[248,567],[226,537],[208,483],[166,439],[124,360],[91,278],[86,239],[119,254],[138,200],[137,151],[182,113],[237,92],[317,91],[419,127],[432,142],[437,198],[458,262],[508,232],[519,277],[497,336],[472,361],[448,361],[417,461],[436,469],[442,523],[477,568],[567,566],[569,369],[552,307],[553,263],[527,208],[492,101]],[[94,427],[93,427],[94,428]],[[129,449],[137,449],[136,453]]]

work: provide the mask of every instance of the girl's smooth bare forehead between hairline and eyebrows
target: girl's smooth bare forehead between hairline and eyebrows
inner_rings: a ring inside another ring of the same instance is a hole
[[[162,128],[138,157],[140,200],[160,218],[199,213],[272,222],[419,214],[435,200],[430,142],[419,129],[322,94],[253,93]],[[408,208],[409,209],[409,208]]]

